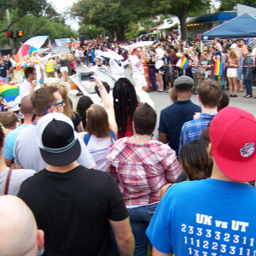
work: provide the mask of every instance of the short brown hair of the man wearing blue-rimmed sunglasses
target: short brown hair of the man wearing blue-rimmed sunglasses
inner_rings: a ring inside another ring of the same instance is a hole
[[[49,86],[35,90],[31,96],[34,112],[37,116],[43,116],[44,110],[54,104],[56,99],[53,93],[58,90],[57,86]]]

